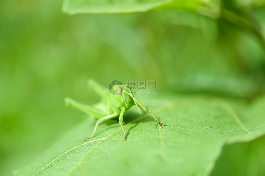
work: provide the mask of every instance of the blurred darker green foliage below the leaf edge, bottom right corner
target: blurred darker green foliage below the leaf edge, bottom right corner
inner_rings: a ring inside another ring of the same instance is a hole
[[[247,143],[233,143],[224,146],[210,176],[264,175],[264,148],[265,136]]]

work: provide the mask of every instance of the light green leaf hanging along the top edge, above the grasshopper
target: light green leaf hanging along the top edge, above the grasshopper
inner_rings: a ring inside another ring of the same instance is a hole
[[[62,11],[78,13],[134,13],[152,9],[177,9],[197,11],[199,6],[209,6],[201,0],[64,0]]]

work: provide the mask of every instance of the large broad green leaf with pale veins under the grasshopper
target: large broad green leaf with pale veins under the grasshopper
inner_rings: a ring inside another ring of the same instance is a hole
[[[160,128],[133,107],[124,115],[126,141],[116,122],[101,124],[96,136],[84,142],[82,137],[95,125],[88,119],[16,175],[206,175],[225,144],[265,134],[265,97],[251,104],[200,96],[156,97],[142,96],[140,102],[168,126]]]

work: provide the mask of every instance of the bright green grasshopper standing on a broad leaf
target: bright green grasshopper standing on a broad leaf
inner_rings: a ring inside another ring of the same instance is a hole
[[[109,109],[109,111],[104,112],[103,110],[100,110],[94,106],[79,103],[71,98],[64,99],[66,106],[79,109],[80,111],[83,111],[84,113],[87,113],[96,118],[99,118],[99,120],[96,122],[96,126],[94,128],[92,135],[83,138],[83,140],[94,137],[96,133],[96,129],[99,124],[109,119],[112,119],[114,117],[118,117],[118,116],[119,116],[120,126],[124,133],[123,140],[126,140],[127,135],[122,125],[123,115],[124,115],[124,112],[128,110],[130,107],[132,107],[133,105],[137,106],[137,109],[140,114],[142,113],[139,107],[143,109],[145,112],[149,112],[151,116],[154,118],[154,120],[159,125],[164,124],[165,126],[167,126],[164,122],[158,121],[158,119],[154,116],[154,114],[147,107],[141,105],[141,103],[139,103],[139,101],[137,101],[137,99],[134,98],[132,94],[132,90],[129,85],[124,84],[124,85],[113,86],[114,90],[116,90],[116,93],[114,95],[108,92],[107,88],[105,88],[104,86],[100,85],[99,83],[93,80],[88,80],[88,86],[92,88],[95,91],[95,93],[101,97],[101,105],[103,104],[104,105],[103,107],[105,107],[105,109]]]

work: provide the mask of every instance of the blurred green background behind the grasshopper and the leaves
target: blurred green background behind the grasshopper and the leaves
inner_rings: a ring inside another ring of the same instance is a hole
[[[0,2],[0,175],[12,174],[86,118],[81,112],[69,118],[77,112],[63,99],[98,102],[88,78],[105,86],[114,79],[156,80],[159,92],[250,102],[264,95],[263,5],[222,2],[247,28],[185,10],[69,16],[62,1]],[[213,175],[222,175],[230,151],[238,151],[239,162],[229,173],[249,166],[247,152],[258,152],[252,165],[264,166],[264,142],[226,146]]]

